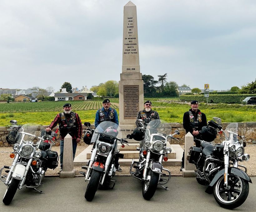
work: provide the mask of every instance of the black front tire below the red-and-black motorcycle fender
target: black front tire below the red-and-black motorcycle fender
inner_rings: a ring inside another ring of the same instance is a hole
[[[92,170],[91,172],[91,179],[87,185],[86,192],[85,192],[85,199],[87,201],[93,200],[95,193],[98,189],[99,183],[101,179],[101,172],[98,172],[96,170]]]

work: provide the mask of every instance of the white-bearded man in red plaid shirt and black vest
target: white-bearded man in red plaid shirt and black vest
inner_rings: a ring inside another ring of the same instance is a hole
[[[63,105],[63,112],[56,115],[52,123],[45,130],[46,132],[51,131],[57,124],[59,124],[60,130],[60,162],[61,162],[61,171],[63,165],[63,147],[64,147],[64,138],[67,134],[70,134],[72,137],[72,146],[73,146],[73,159],[76,154],[77,143],[80,142],[82,136],[82,122],[77,113],[71,111],[71,104],[66,103]]]

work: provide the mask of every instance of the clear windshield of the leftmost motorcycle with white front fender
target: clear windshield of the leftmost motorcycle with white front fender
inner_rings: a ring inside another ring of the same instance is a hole
[[[41,125],[35,123],[28,123],[22,125],[21,128],[18,130],[16,135],[16,143],[19,144],[21,141],[22,143],[33,143],[38,145],[41,143],[42,136],[45,133],[45,128]]]

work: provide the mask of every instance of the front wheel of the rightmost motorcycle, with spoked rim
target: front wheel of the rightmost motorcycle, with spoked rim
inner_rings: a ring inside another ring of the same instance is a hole
[[[234,174],[228,176],[229,189],[224,188],[224,176],[214,186],[214,199],[223,208],[233,209],[244,203],[249,194],[249,183]]]

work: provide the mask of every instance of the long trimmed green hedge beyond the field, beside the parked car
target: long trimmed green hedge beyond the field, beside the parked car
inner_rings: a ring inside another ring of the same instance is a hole
[[[209,95],[208,97],[208,103],[226,103],[226,104],[241,104],[242,100],[244,100],[246,97],[253,97],[255,94],[215,94],[215,95]],[[181,101],[193,101],[197,100],[199,102],[206,103],[206,97],[204,95],[181,95],[180,96]]]

